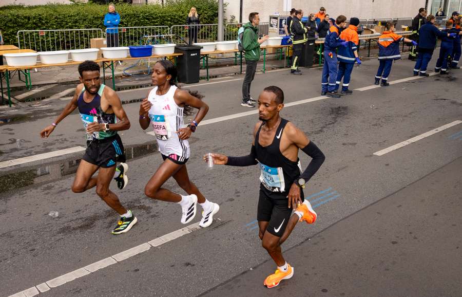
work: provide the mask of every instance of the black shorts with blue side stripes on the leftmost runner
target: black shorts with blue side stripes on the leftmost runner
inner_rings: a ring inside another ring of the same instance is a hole
[[[87,141],[87,150],[82,159],[102,168],[115,166],[117,161],[125,162],[124,145],[120,136],[117,134],[102,140]]]

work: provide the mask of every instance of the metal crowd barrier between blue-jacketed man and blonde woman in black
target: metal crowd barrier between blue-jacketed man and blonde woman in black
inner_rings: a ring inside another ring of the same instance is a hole
[[[106,36],[114,28],[106,28]],[[119,27],[118,33],[112,34],[109,38],[111,43],[117,40],[118,43],[114,43],[108,46],[130,46],[130,45],[144,45],[146,39],[144,36],[164,36],[170,35],[170,28],[168,26],[149,26],[149,27]],[[164,43],[161,39],[150,39],[151,44]]]

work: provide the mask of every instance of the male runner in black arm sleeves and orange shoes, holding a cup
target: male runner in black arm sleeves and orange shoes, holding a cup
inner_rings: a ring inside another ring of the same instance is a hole
[[[276,86],[269,86],[258,98],[260,122],[254,128],[251,154],[243,157],[226,157],[212,154],[215,164],[249,166],[259,164],[260,198],[257,220],[262,246],[278,266],[276,273],[266,277],[268,288],[290,279],[294,268],[285,262],[281,244],[291,234],[298,221],[312,224],[316,213],[308,200],[303,201],[305,183],[324,162],[318,147],[293,123],[281,118],[284,94]],[[306,170],[300,174],[298,150],[313,158]],[[204,156],[207,161],[207,156]],[[292,214],[292,210],[295,213]]]

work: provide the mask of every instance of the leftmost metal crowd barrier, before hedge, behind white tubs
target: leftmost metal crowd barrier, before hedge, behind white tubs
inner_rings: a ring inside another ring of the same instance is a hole
[[[18,47],[35,51],[89,48],[90,39],[103,37],[103,30],[101,29],[17,31]]]

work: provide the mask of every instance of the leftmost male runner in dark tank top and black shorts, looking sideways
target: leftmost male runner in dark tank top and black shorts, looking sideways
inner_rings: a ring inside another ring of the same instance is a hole
[[[121,205],[117,195],[109,190],[109,183],[116,172],[116,157],[125,159],[123,144],[117,131],[130,128],[130,121],[119,96],[114,90],[101,84],[100,66],[97,63],[93,61],[81,63],[79,74],[81,84],[75,88],[74,97],[54,123],[44,128],[40,135],[42,138],[50,136],[57,124],[75,108],[79,108],[86,128],[87,150],[75,174],[72,192],[82,193],[96,186],[98,196],[121,216],[112,234],[125,233],[136,224],[137,218]],[[117,123],[115,117],[119,119]],[[118,187],[123,189],[126,184],[124,172],[127,166],[121,163],[117,169],[119,170],[117,178],[120,178]],[[98,176],[93,177],[98,170]]]

